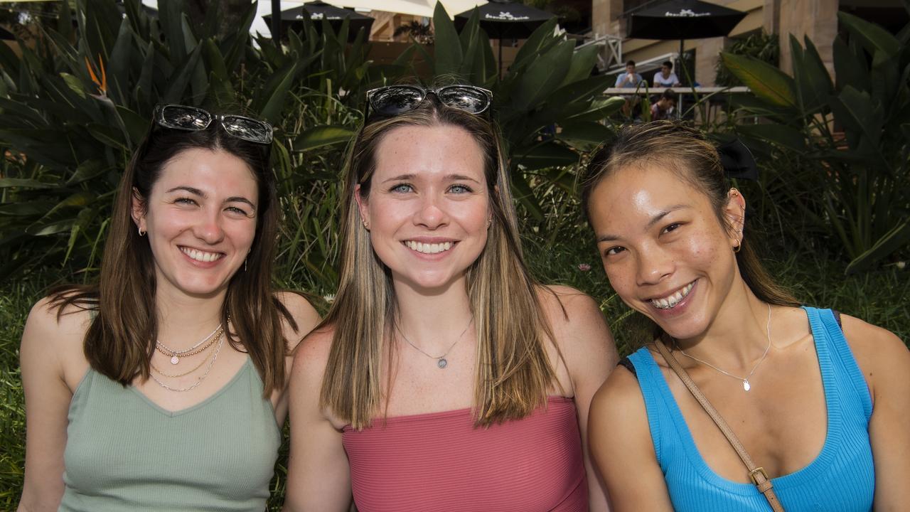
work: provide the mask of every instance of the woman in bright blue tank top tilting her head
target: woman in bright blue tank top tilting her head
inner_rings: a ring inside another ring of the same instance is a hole
[[[623,128],[591,159],[582,198],[613,289],[652,322],[785,510],[905,509],[910,353],[893,333],[845,315],[842,328],[773,283],[750,247],[743,195],[697,130]],[[771,510],[652,344],[622,365],[589,422],[613,510]]]

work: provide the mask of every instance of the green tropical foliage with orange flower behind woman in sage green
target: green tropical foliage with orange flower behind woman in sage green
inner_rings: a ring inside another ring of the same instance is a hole
[[[286,198],[325,178],[298,169],[338,150],[359,120],[351,106],[373,77],[366,36],[345,44],[347,24],[336,34],[324,23],[319,34],[304,20],[287,46],[254,46],[255,5],[227,36],[217,36],[217,2],[201,26],[177,0],[161,0],[157,19],[138,0],[124,7],[121,15],[106,0],[79,0],[71,12],[62,2],[66,23],[40,32],[34,47],[20,42],[21,57],[0,45],[0,280],[40,264],[96,268],[116,182],[159,102],[271,121]],[[400,70],[382,67],[379,79]]]

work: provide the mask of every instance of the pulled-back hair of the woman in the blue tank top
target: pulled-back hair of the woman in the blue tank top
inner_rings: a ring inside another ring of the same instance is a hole
[[[711,201],[717,220],[730,229],[723,208],[727,204],[730,182],[721,165],[720,155],[703,134],[674,121],[652,121],[623,127],[617,137],[599,148],[581,176],[581,207],[591,220],[591,192],[603,179],[630,165],[660,162],[681,179],[701,191]],[[743,220],[743,241],[736,253],[740,275],[760,300],[776,305],[799,306],[800,303],[764,270],[748,236],[748,223]],[[643,315],[642,315],[643,316]],[[656,323],[649,335],[661,336]],[[647,340],[651,341],[651,340]]]

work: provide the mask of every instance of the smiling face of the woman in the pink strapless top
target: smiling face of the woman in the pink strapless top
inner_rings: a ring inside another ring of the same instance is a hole
[[[448,125],[394,128],[379,142],[369,194],[357,199],[393,280],[424,292],[463,282],[487,242],[490,197],[470,133]]]

